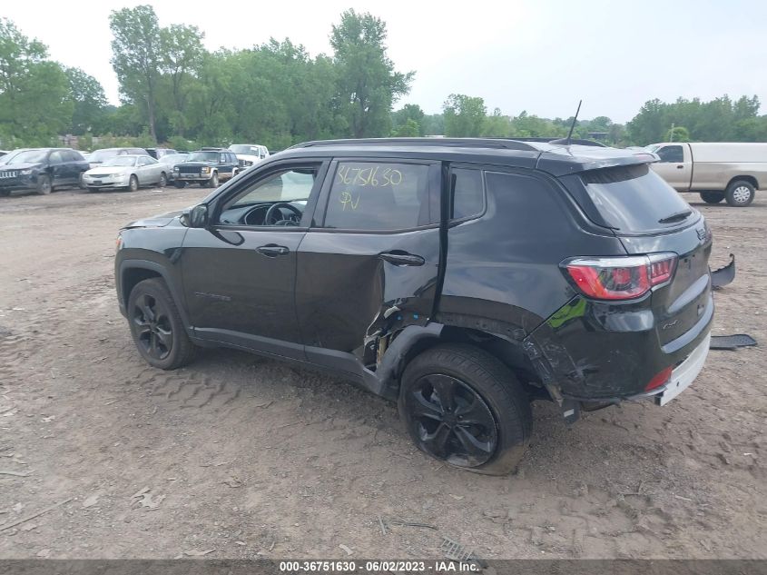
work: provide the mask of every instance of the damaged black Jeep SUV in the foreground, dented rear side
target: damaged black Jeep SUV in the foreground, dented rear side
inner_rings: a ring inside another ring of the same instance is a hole
[[[514,470],[534,399],[566,421],[660,405],[703,367],[703,216],[654,154],[497,139],[312,142],[120,232],[117,296],[152,366],[261,353],[398,402],[418,447]]]

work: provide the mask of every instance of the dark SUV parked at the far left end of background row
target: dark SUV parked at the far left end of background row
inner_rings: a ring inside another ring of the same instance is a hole
[[[58,187],[82,185],[87,169],[83,156],[71,148],[24,150],[0,166],[0,195],[14,190],[45,194]]]

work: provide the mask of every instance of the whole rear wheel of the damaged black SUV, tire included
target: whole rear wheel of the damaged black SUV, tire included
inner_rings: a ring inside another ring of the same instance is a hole
[[[410,362],[398,409],[419,450],[488,475],[516,471],[533,428],[530,402],[514,373],[465,344],[438,345]]]

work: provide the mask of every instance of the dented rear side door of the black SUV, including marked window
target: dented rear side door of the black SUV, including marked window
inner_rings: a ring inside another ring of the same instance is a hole
[[[428,322],[438,289],[440,164],[339,159],[300,244],[296,308],[307,358],[348,372],[379,338]]]

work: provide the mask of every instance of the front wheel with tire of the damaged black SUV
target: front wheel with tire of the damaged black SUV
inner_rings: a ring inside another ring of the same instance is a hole
[[[176,370],[194,357],[194,345],[181,314],[159,278],[135,285],[128,298],[133,343],[144,361],[161,370]]]

